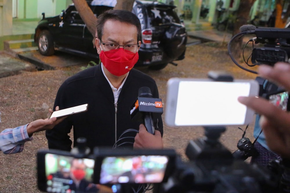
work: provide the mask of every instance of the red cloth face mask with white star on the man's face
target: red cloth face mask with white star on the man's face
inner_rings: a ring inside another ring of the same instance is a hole
[[[102,50],[100,59],[111,74],[119,77],[134,67],[139,59],[139,55],[138,52],[126,53],[123,48],[119,48],[117,52],[104,52]]]

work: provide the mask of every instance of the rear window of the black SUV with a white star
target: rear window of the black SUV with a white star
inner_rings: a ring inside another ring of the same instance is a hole
[[[147,7],[151,19],[151,26],[161,26],[170,23],[180,23],[176,12],[168,7]]]

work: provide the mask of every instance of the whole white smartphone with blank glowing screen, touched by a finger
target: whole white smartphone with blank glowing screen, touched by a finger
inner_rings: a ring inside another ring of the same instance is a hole
[[[258,96],[255,80],[217,82],[211,79],[172,78],[167,82],[165,123],[168,126],[246,125],[254,111],[239,96]]]

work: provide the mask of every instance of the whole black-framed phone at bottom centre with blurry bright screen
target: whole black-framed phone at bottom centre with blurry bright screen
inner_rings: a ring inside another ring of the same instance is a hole
[[[174,150],[95,149],[95,182],[162,183],[173,171]]]

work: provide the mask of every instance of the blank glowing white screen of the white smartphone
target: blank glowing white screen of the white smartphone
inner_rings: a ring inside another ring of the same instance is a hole
[[[248,96],[248,82],[180,81],[175,125],[243,125],[247,108],[238,102]]]

